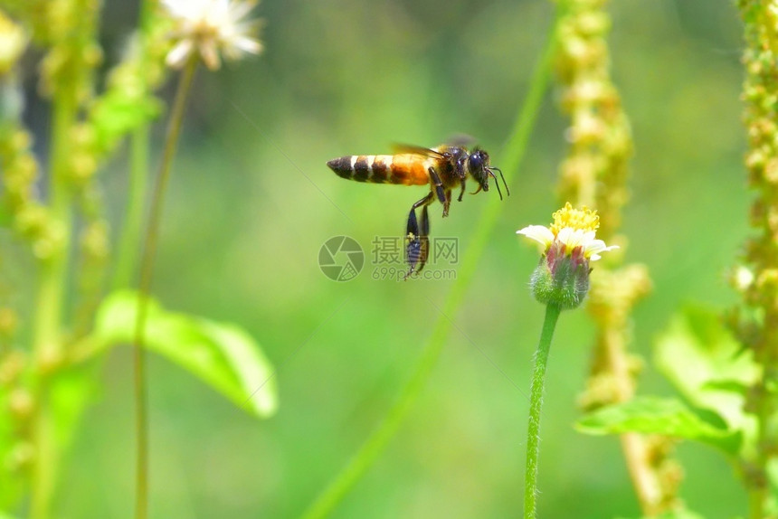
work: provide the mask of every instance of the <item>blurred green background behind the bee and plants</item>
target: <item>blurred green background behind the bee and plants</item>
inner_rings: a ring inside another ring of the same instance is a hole
[[[133,2],[106,3],[107,57]],[[735,301],[724,272],[747,233],[741,157],[741,25],[731,2],[624,0],[613,16],[612,74],[636,142],[623,231],[627,260],[654,293],[635,312],[635,345],[679,306]],[[154,292],[166,307],[251,331],[277,367],[280,410],[252,420],[158,357],[149,369],[152,516],[294,517],[344,466],[413,370],[451,281],[370,277],[370,242],[403,231],[422,187],[349,183],[327,160],[478,138],[500,149],[551,23],[547,2],[266,0],[260,58],[201,70],[166,201]],[[335,517],[508,517],[522,506],[527,393],[543,308],[529,295],[535,247],[515,231],[559,206],[566,120],[546,96],[524,168],[502,204],[456,329],[397,437]],[[161,142],[162,128],[159,128]],[[122,161],[103,177],[120,212]],[[454,203],[432,232],[467,250],[488,196]],[[355,280],[333,282],[318,250],[348,235],[367,251]],[[596,266],[595,266],[596,267]],[[431,302],[432,301],[432,302]],[[562,316],[542,428],[541,517],[640,515],[618,441],[578,434],[592,326]],[[460,333],[461,332],[461,333]],[[132,505],[131,360],[111,354],[62,475],[63,517],[125,517]],[[496,367],[497,366],[497,367]],[[671,393],[650,365],[640,392]],[[707,517],[745,510],[716,452],[678,447],[682,495]]]

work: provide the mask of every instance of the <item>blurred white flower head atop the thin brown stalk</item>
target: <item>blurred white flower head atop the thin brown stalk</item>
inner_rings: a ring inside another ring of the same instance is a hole
[[[166,59],[173,68],[181,68],[193,52],[212,71],[221,66],[221,56],[234,61],[262,52],[258,21],[244,19],[255,0],[162,0],[162,5],[176,24],[176,44]]]

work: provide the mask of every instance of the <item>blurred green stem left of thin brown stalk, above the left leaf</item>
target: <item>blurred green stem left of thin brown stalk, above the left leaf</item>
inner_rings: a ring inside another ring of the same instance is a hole
[[[143,229],[144,195],[148,184],[149,128],[144,124],[132,132],[129,139],[129,191],[127,212],[119,241],[116,270],[111,288],[128,288],[133,283],[133,273],[138,265],[138,243]]]

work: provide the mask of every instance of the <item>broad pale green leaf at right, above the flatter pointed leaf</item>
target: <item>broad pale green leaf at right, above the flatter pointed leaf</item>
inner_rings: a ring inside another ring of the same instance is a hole
[[[678,391],[699,408],[715,411],[729,429],[751,437],[755,421],[743,410],[745,388],[759,370],[716,312],[690,307],[676,316],[655,345],[655,362]]]

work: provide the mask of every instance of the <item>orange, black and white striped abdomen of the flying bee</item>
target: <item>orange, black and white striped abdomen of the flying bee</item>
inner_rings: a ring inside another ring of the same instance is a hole
[[[372,184],[422,185],[429,183],[426,166],[416,156],[342,156],[327,162],[338,176]]]

